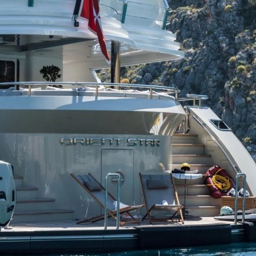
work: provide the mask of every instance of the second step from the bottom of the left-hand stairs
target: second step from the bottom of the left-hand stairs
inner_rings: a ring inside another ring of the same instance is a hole
[[[16,200],[16,211],[24,210],[44,210],[51,208],[55,199],[19,199]]]

